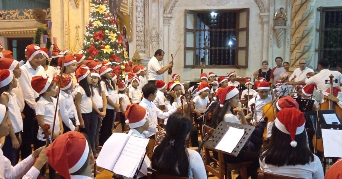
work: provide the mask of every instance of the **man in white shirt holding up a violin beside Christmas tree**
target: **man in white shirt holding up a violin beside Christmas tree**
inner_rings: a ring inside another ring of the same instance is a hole
[[[152,57],[147,65],[148,70],[148,83],[155,84],[157,79],[163,79],[163,73],[168,71],[168,69],[172,68],[172,62],[170,62],[167,66],[162,66],[160,61],[164,59],[164,51],[162,49],[158,49],[154,53],[154,57]]]

